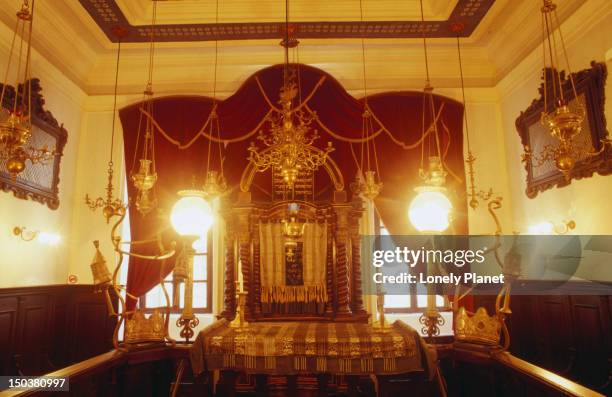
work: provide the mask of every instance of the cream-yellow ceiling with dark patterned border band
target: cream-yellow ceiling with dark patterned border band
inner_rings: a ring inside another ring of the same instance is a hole
[[[22,0],[2,0],[0,46]],[[607,0],[589,0],[604,2]],[[539,0],[423,0],[432,83],[457,87],[452,23],[461,33],[468,86],[494,86],[541,41]],[[228,95],[250,74],[283,61],[283,0],[166,0],[158,3],[156,94],[212,91],[215,52],[217,92]],[[559,0],[565,20],[586,0]],[[119,92],[135,94],[147,79],[150,0],[37,0],[33,46],[86,93],[113,91],[117,44],[113,27],[130,30],[122,45]],[[420,89],[424,84],[419,0],[290,0],[292,31],[300,40],[293,61],[326,70],[355,95],[363,87],[365,37],[368,87]],[[427,29],[429,27],[429,29]],[[166,34],[161,34],[165,28]],[[220,39],[215,51],[214,39]],[[36,61],[33,65],[36,70]]]

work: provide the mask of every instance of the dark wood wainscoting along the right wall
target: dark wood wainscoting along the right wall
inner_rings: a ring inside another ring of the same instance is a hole
[[[598,295],[596,285],[580,282],[557,292],[512,297],[510,352],[612,395],[612,296]],[[476,307],[492,312],[494,296],[474,298]]]

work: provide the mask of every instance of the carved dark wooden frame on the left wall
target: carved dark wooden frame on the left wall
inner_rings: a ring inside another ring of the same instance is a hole
[[[12,181],[4,167],[0,167],[0,189],[5,192],[12,192],[17,198],[24,200],[32,200],[41,204],[46,204],[52,210],[59,207],[59,173],[60,162],[64,153],[64,147],[68,141],[68,132],[63,124],[53,117],[53,114],[45,110],[45,100],[41,94],[42,87],[39,79],[32,79],[32,127],[34,134],[48,134],[55,140],[55,150],[58,153],[54,159],[46,163],[52,174],[50,187],[42,186],[33,180],[27,179],[23,175],[19,175],[16,181]],[[2,89],[2,84],[0,84]],[[19,90],[21,91],[21,90]],[[15,88],[6,87],[4,103],[2,106],[8,107],[13,103],[15,98]],[[51,148],[50,148],[51,149]],[[31,164],[28,162],[28,166]]]

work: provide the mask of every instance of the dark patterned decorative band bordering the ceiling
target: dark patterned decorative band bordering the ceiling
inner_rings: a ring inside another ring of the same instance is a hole
[[[79,0],[111,42],[113,31],[127,29],[123,42],[139,43],[150,39],[151,25],[131,25],[115,0]],[[462,37],[468,37],[482,21],[495,0],[459,0],[445,21],[354,21],[292,22],[290,33],[297,38],[419,38],[421,29],[427,37],[455,37],[453,26],[463,25]],[[156,26],[156,41],[185,42],[211,40],[280,39],[283,22],[245,22],[220,24],[166,24]]]

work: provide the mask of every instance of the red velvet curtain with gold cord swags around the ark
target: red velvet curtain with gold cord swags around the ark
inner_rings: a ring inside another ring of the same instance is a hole
[[[357,172],[355,157],[359,158],[362,145],[351,143],[362,135],[362,114],[364,100],[357,100],[326,72],[306,65],[293,65],[298,73],[300,97],[307,105],[305,111],[316,112],[320,124],[313,123],[321,138],[315,142],[323,147],[332,142],[335,150],[332,159],[338,164],[348,190],[350,182]],[[278,93],[283,83],[283,65],[275,65],[260,70],[249,77],[238,91],[218,103],[217,114],[221,130],[221,156],[224,158],[225,176],[232,195],[240,182],[242,171],[248,161],[247,148],[256,142],[257,134],[248,139],[238,140],[248,132],[256,132],[265,115],[270,111],[270,104],[278,106]],[[456,234],[467,233],[465,218],[465,185],[463,162],[463,106],[448,98],[435,96],[435,107],[443,107],[439,119],[439,130],[442,146],[445,148],[445,164],[449,171],[461,179],[448,178],[451,199],[456,213],[453,231]],[[421,161],[420,148],[406,150],[396,142],[413,144],[422,134],[423,94],[421,92],[389,92],[372,95],[368,103],[380,124],[388,132],[382,132],[375,138],[376,152],[379,160],[380,178],[384,183],[381,195],[375,200],[376,208],[392,234],[412,234],[414,230],[408,222],[408,203],[414,196],[414,187],[420,182],[418,168]],[[131,168],[134,161],[138,126],[143,122],[140,112],[141,103],[134,104],[120,111],[125,142],[126,164]],[[153,117],[159,127],[172,139],[181,144],[190,142],[202,128],[212,109],[212,100],[207,97],[174,96],[157,98],[154,101]],[[426,112],[425,125],[430,124],[430,114]],[[318,124],[318,125],[317,125]],[[374,122],[374,130],[381,125]],[[267,123],[261,126],[266,131]],[[330,134],[331,131],[331,134]],[[391,134],[392,137],[389,135]],[[130,207],[130,227],[132,240],[143,240],[153,237],[161,228],[167,242],[176,238],[167,222],[168,213],[177,200],[177,191],[204,182],[204,170],[209,141],[198,138],[188,149],[179,149],[160,133],[155,135],[155,151],[158,172],[156,185],[159,198],[159,211],[142,217]],[[219,149],[213,143],[211,164],[219,161]],[[270,179],[267,173],[258,174],[252,189],[254,200],[269,200]],[[315,175],[316,191],[323,192],[317,199],[329,198],[333,189],[325,171],[319,170]],[[135,189],[128,182],[128,194],[135,197]],[[155,251],[155,247],[140,249]],[[170,273],[173,263],[160,265],[132,258],[128,271],[127,290],[135,296],[141,296],[154,287],[162,276]],[[133,308],[135,302],[128,301]]]

